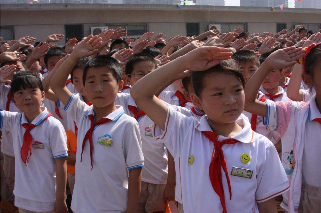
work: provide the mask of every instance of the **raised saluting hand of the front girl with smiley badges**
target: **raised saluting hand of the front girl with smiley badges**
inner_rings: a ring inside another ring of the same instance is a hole
[[[204,71],[220,63],[220,60],[230,59],[232,52],[222,47],[198,47],[182,56],[189,70]]]

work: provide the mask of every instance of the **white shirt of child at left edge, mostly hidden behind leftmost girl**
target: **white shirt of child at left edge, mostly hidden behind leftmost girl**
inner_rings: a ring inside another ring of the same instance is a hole
[[[1,111],[6,110],[6,103],[7,103],[7,96],[10,92],[10,85],[4,85],[1,84]],[[21,111],[18,109],[18,107],[14,104],[13,100],[10,101],[9,105],[10,112],[18,112],[21,113]],[[2,132],[2,140],[1,140],[1,152],[14,157],[13,152],[13,138],[12,133],[10,131],[4,131]]]

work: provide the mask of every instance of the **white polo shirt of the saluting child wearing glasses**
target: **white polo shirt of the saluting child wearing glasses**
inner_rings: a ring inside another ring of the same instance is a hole
[[[134,99],[130,94],[118,93],[116,105],[124,107],[126,115],[134,117],[129,110],[129,106],[137,107]],[[153,138],[154,122],[147,116],[141,116],[137,119],[139,132],[142,138],[144,165],[142,172],[142,181],[154,184],[166,184],[168,175],[168,162],[165,154],[165,145],[163,141],[157,141]]]

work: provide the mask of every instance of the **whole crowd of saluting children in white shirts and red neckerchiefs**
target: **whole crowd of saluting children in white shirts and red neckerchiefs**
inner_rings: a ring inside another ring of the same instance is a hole
[[[63,38],[1,46],[20,213],[321,212],[320,30]]]

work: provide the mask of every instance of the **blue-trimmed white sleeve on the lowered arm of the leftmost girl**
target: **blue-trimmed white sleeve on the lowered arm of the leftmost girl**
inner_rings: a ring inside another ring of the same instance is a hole
[[[49,145],[54,159],[68,157],[67,136],[63,125],[56,121],[48,134]]]

